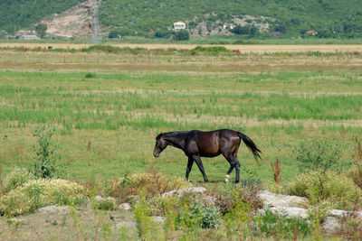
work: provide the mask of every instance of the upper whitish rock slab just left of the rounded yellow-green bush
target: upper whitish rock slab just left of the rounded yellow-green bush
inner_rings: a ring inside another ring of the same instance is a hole
[[[308,199],[298,196],[289,196],[271,193],[268,190],[262,190],[258,197],[262,199],[264,207],[295,207],[304,208],[308,206]]]

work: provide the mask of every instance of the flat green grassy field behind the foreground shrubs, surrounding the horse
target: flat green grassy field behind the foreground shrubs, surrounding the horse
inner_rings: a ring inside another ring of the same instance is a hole
[[[169,147],[160,158],[152,156],[161,132],[243,131],[262,149],[263,161],[257,165],[242,144],[242,179],[254,176],[263,182],[272,181],[270,161],[276,157],[281,181],[293,179],[299,172],[294,153],[302,141],[335,140],[343,146],[343,161],[349,162],[361,138],[360,45],[319,46],[319,52],[314,46],[233,46],[242,48],[241,55],[5,46],[10,45],[2,44],[0,51],[0,162],[5,174],[14,165],[33,167],[33,130],[41,123],[57,126],[62,170],[77,180],[111,180],[151,167],[184,177],[181,151]],[[205,159],[204,166],[210,185],[223,185],[224,158]],[[202,182],[197,167],[190,180]]]

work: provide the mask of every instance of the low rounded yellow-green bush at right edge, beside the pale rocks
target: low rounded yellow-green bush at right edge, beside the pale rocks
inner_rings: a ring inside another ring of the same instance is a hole
[[[310,199],[311,204],[324,204],[329,209],[356,209],[362,195],[352,180],[334,171],[302,173],[291,182],[288,192]]]

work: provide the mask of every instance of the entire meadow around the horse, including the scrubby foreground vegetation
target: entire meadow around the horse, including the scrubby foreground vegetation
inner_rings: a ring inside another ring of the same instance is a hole
[[[362,205],[353,198],[362,187],[362,171],[356,169],[362,162],[362,148],[356,161],[362,132],[360,46],[49,45],[0,45],[0,239],[96,240],[99,226],[100,239],[111,240],[320,239],[325,234],[319,215],[326,205]],[[33,177],[42,155],[36,130],[43,124],[55,128],[52,147],[44,146],[56,151],[52,162],[61,181]],[[209,183],[195,165],[190,183],[182,181],[187,158],[176,148],[153,156],[159,133],[219,128],[247,134],[262,150],[257,163],[241,144],[241,184],[224,183],[229,164],[222,156],[202,159]],[[322,156],[326,160],[319,161],[328,167],[338,160],[338,172],[302,174],[313,163],[300,168],[300,153]],[[278,170],[271,168],[277,158],[281,185],[274,184]],[[306,180],[312,184],[304,185]],[[217,210],[191,196],[157,199],[189,185],[204,186],[218,200]],[[311,189],[307,194],[298,193],[303,185]],[[30,192],[22,196],[26,187]],[[261,187],[307,196],[310,210],[317,211],[309,223],[260,216],[254,211],[261,201],[253,195]],[[42,189],[48,195],[35,191]],[[116,209],[129,194],[139,195],[140,202],[132,202],[132,211]],[[115,199],[97,204],[96,195]],[[52,204],[78,209],[35,211]],[[164,232],[150,215],[166,216]],[[187,223],[187,217],[195,222]],[[125,221],[134,227],[123,227]],[[360,222],[346,224],[332,235],[362,234]]]

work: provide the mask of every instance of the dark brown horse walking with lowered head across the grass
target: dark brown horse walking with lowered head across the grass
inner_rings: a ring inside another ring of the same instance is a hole
[[[188,181],[188,175],[194,162],[196,162],[199,170],[203,174],[204,181],[208,182],[203,162],[201,162],[201,157],[215,157],[223,154],[224,158],[230,164],[230,168],[226,172],[225,181],[229,181],[230,173],[233,171],[233,168],[235,168],[235,183],[238,183],[240,176],[240,162],[237,158],[237,152],[241,140],[243,140],[243,143],[252,152],[256,161],[258,161],[258,158],[262,159],[260,156],[262,151],[256,147],[251,138],[241,132],[229,129],[210,132],[193,130],[188,132],[168,132],[158,134],[153,155],[157,158],[159,154],[166,149],[167,145],[181,149],[188,157],[186,181]]]

